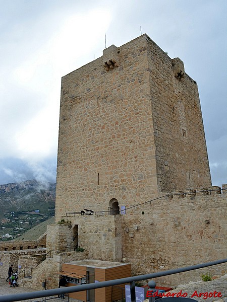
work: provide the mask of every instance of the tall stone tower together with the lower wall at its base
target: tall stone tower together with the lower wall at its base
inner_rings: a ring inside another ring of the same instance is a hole
[[[134,274],[222,259],[226,188],[211,187],[196,83],[147,35],[62,78],[55,222],[67,223],[49,226],[48,251],[80,246]]]

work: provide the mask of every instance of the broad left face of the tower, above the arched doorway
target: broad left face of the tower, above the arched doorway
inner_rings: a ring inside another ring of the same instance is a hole
[[[117,49],[119,67],[100,57],[62,79],[56,221],[157,193],[146,35]]]

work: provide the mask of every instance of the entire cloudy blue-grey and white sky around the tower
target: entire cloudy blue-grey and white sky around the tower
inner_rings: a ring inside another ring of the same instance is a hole
[[[0,184],[55,181],[61,77],[146,33],[199,87],[213,185],[227,183],[226,0],[0,0]]]

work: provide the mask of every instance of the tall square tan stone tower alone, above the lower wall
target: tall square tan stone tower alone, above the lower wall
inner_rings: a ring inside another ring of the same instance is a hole
[[[62,78],[56,221],[211,186],[198,89],[146,34]]]

